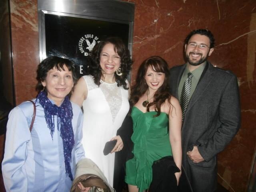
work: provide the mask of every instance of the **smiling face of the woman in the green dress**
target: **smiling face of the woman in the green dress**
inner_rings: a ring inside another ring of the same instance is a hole
[[[156,91],[164,83],[165,74],[163,72],[156,72],[152,69],[151,66],[149,66],[144,78],[148,88]]]

